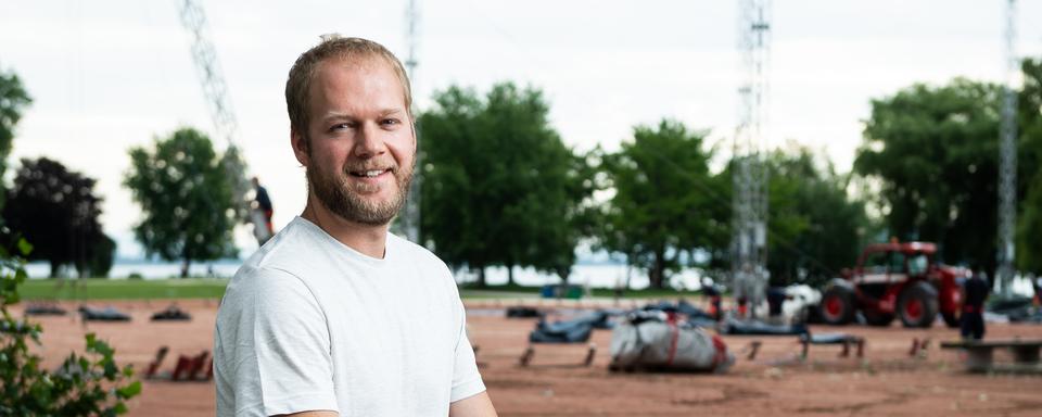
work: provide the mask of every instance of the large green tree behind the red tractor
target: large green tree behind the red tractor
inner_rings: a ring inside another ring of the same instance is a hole
[[[994,271],[1001,94],[995,85],[956,78],[872,101],[854,169],[878,179],[892,236],[936,241],[943,261]],[[1038,170],[1027,151],[1020,147],[1019,178]],[[1018,181],[1021,201],[1027,186]]]

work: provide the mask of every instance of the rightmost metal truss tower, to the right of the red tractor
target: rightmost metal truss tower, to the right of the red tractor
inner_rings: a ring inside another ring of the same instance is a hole
[[[1014,230],[1017,225],[1017,80],[1020,60],[1017,58],[1017,2],[1007,0],[1005,13],[1006,64],[1002,100],[1002,127],[999,146],[999,279],[1000,293],[1011,295],[1015,257]]]

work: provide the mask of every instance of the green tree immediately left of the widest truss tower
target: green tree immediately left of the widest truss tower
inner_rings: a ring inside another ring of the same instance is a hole
[[[709,172],[706,135],[663,119],[635,127],[632,140],[603,157],[615,193],[601,214],[599,245],[647,269],[653,288],[664,288],[671,273],[690,264],[695,250],[725,244],[722,201],[728,199]]]

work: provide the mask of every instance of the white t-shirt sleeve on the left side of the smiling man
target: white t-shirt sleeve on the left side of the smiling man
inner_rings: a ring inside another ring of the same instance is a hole
[[[336,410],[326,317],[295,276],[243,270],[217,313],[218,416]]]

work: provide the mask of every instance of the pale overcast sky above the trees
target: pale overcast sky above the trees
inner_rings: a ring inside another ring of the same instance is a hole
[[[304,172],[289,146],[290,66],[328,33],[376,40],[404,60],[408,0],[196,1],[239,122],[237,144],[283,226],[305,203]],[[618,149],[633,126],[663,117],[730,147],[742,79],[737,1],[417,3],[421,111],[450,85],[484,92],[509,80],[544,91],[552,126],[576,150]],[[766,144],[809,147],[848,172],[872,99],[957,76],[1001,81],[1005,3],[775,1]],[[122,257],[141,256],[130,231],[141,212],[122,186],[127,150],[181,126],[214,131],[180,4],[0,2],[0,70],[16,72],[34,98],[12,160],[47,156],[97,178],[102,224]],[[1020,1],[1018,12],[1018,54],[1042,55],[1042,2]],[[245,230],[237,242],[244,255],[256,250]]]

